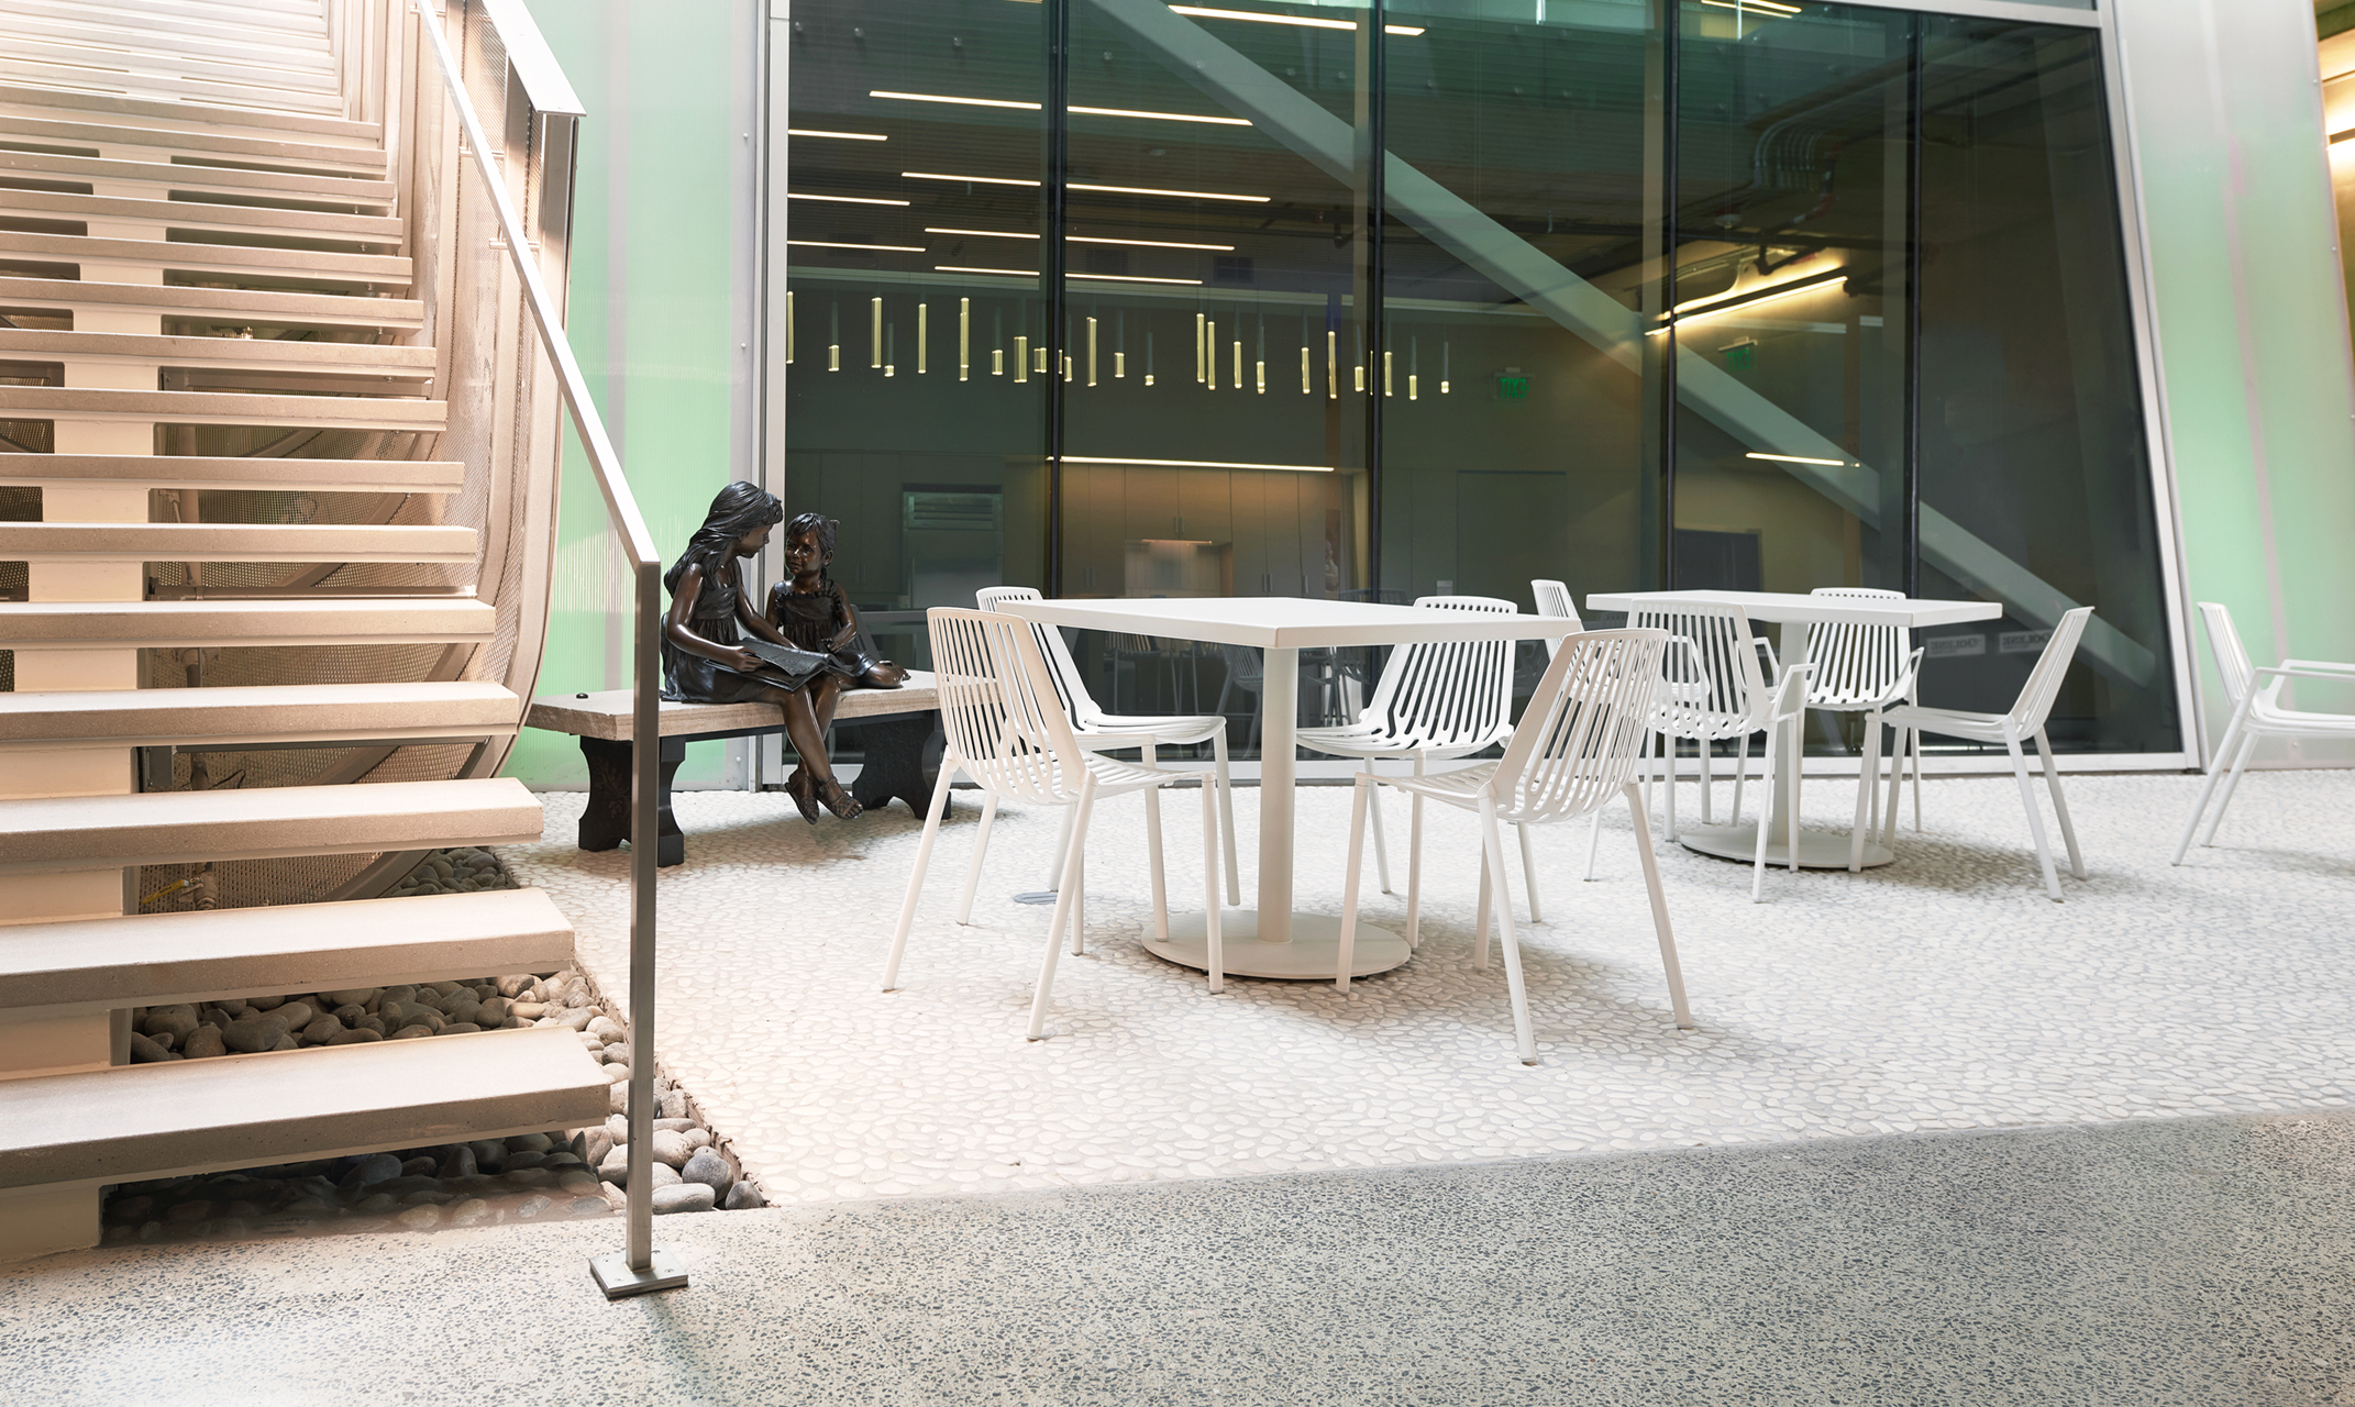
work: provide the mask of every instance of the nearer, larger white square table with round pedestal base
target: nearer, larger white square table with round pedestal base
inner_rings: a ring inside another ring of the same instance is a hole
[[[1486,616],[1404,605],[1295,595],[1208,595],[1152,600],[1008,600],[1001,612],[1048,626],[1166,635],[1258,649],[1260,694],[1260,906],[1222,915],[1220,960],[1243,976],[1331,979],[1340,960],[1340,918],[1293,911],[1293,729],[1300,725],[1300,652],[1331,645],[1420,645],[1427,640],[1559,640],[1578,621]],[[1842,861],[1846,863],[1846,861]],[[1208,967],[1201,915],[1170,915],[1159,958]],[[1352,976],[1406,962],[1406,939],[1359,922]]]

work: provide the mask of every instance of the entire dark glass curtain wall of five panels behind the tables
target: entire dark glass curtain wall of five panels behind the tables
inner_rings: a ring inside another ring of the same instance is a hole
[[[890,628],[996,581],[1872,586],[2004,600],[1924,640],[1926,696],[1999,708],[2068,600],[2101,614],[2056,743],[2178,746],[2094,31],[1764,0],[794,14],[789,496],[843,518],[836,576]],[[1253,755],[1255,656],[1074,654],[1107,708],[1227,713]],[[1378,668],[1309,652],[1302,722]]]

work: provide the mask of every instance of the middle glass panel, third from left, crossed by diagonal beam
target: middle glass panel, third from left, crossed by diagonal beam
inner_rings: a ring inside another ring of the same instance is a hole
[[[1387,9],[1382,584],[1531,612],[1660,574],[1663,54],[1648,5],[1460,12]]]

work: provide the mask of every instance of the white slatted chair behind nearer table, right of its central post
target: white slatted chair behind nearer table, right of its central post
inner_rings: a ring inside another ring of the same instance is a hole
[[[1415,598],[1415,609],[1510,616],[1521,607],[1495,595],[1422,595]],[[1408,758],[1420,776],[1425,762],[1470,758],[1512,736],[1512,640],[1399,645],[1389,652],[1373,699],[1356,722],[1302,727],[1295,736],[1302,748],[1361,758],[1366,772],[1373,772],[1378,760]],[[1408,828],[1422,833],[1422,798],[1415,798]],[[1380,802],[1373,809],[1373,868],[1382,880],[1382,894],[1389,894],[1389,847],[1382,840]],[[1528,875],[1528,922],[1545,922],[1526,828],[1521,871]],[[1413,875],[1406,882],[1413,885]]]

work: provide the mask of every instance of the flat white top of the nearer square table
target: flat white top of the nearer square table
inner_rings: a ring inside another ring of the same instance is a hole
[[[1578,633],[1561,616],[1493,616],[1434,612],[1364,600],[1302,595],[1187,595],[1145,600],[1003,600],[1001,612],[1128,635],[1173,635],[1251,649],[1314,649],[1324,645],[1415,645],[1422,640],[1559,640]]]

